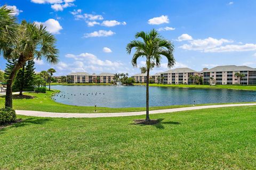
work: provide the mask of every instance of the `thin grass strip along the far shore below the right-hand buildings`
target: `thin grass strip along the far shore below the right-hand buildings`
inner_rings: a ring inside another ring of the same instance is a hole
[[[146,83],[134,83],[137,86],[146,86]],[[173,87],[173,88],[203,88],[203,89],[233,89],[233,90],[256,90],[256,86],[241,85],[196,85],[196,84],[149,84],[153,87]]]

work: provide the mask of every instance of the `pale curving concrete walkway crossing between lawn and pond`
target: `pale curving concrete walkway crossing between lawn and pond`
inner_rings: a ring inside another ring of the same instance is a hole
[[[208,105],[208,106],[192,106],[192,107],[181,107],[181,108],[171,108],[171,109],[162,109],[156,111],[149,111],[149,114],[157,113],[171,113],[171,112],[180,112],[180,111],[192,111],[197,109],[204,108],[219,108],[219,107],[234,107],[234,106],[254,106],[253,104],[228,104],[228,105]],[[16,111],[18,115],[26,116],[38,116],[38,117],[118,117],[118,116],[137,116],[145,115],[146,112],[123,112],[123,113],[53,113],[53,112],[39,112],[39,111]]]

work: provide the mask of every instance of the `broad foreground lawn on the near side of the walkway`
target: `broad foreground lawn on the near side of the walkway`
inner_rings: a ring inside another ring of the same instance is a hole
[[[1,169],[255,169],[256,106],[132,117],[22,118],[0,130]]]

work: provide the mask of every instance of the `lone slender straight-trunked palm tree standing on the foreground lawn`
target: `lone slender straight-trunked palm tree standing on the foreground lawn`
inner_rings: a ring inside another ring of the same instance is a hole
[[[149,71],[154,68],[154,66],[159,67],[161,65],[162,56],[167,58],[167,66],[170,68],[175,64],[173,57],[174,46],[173,44],[164,39],[159,35],[159,33],[153,29],[150,32],[138,32],[135,38],[141,38],[140,40],[133,40],[126,46],[126,51],[131,54],[133,48],[135,48],[135,53],[132,58],[132,65],[137,67],[137,60],[140,57],[146,58],[146,72],[147,73],[147,86],[146,86],[146,121],[150,121],[149,118]],[[143,70],[143,69],[141,69]]]

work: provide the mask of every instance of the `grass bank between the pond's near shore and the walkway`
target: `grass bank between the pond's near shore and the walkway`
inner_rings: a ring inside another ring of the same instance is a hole
[[[95,113],[95,107],[93,106],[72,106],[57,103],[51,99],[51,96],[59,92],[58,90],[47,91],[46,94],[25,92],[24,97],[20,98],[19,95],[14,95],[13,108],[17,110],[26,111],[44,111],[44,112],[60,112],[60,113]],[[31,98],[31,96],[33,98]],[[0,108],[4,107],[5,98],[0,96]],[[252,102],[250,102],[252,103]],[[234,104],[234,103],[229,103]],[[197,104],[196,106],[214,105],[214,104]],[[222,104],[218,104],[222,105]],[[180,108],[190,107],[193,105],[172,105],[172,106],[156,106],[150,107],[151,111],[167,108]],[[109,108],[109,107],[97,107],[97,113],[117,113],[117,112],[139,112],[146,111],[145,107],[129,107],[129,108]]]

